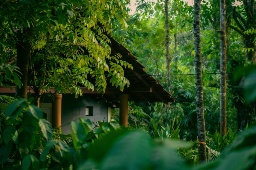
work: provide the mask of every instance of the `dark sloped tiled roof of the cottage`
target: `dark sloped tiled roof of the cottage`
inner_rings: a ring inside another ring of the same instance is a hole
[[[98,25],[101,25],[98,23]],[[125,48],[122,44],[117,42],[111,34],[107,35],[111,43],[111,54],[119,53],[122,55],[121,60],[126,61],[133,66],[133,70],[124,68],[124,75],[130,81],[130,87],[124,87],[123,94],[129,94],[129,100],[135,102],[173,102],[176,101],[172,95],[158,83],[153,76],[144,71],[144,66],[138,62],[137,58]],[[110,81],[108,78],[107,82]],[[112,92],[111,92],[112,91]],[[107,90],[102,94],[88,94],[93,100],[106,100],[107,102],[117,103],[119,101],[119,94],[122,94],[119,89],[114,89],[111,84],[107,85]]]

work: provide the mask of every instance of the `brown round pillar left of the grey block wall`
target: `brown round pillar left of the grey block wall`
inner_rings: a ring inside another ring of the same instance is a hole
[[[54,100],[51,102],[51,124],[53,128],[61,126],[62,94],[54,94],[54,97]]]

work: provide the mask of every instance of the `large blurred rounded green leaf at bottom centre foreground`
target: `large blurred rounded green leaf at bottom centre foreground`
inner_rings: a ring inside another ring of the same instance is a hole
[[[105,156],[102,170],[141,169],[150,162],[151,143],[146,134],[132,131],[118,139]],[[115,160],[115,161],[113,161]]]

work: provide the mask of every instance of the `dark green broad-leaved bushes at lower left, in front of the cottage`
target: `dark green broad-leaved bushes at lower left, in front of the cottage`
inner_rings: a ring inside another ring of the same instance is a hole
[[[4,169],[69,169],[83,159],[80,149],[87,150],[104,133],[120,128],[115,122],[102,121],[93,128],[89,119],[80,118],[81,123],[72,122],[71,137],[52,131],[41,109],[30,104],[32,99],[1,98],[0,164]]]

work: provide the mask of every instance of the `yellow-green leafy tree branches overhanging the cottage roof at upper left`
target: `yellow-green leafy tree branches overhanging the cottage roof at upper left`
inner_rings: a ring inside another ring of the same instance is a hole
[[[69,90],[78,97],[82,95],[81,85],[94,90],[95,82],[100,93],[106,89],[104,74],[111,76],[112,84],[119,86],[121,91],[124,85],[129,86],[122,66],[133,67],[121,61],[120,54],[110,56],[111,49],[107,44],[110,40],[106,36],[112,31],[113,17],[127,28],[129,15],[124,10],[125,2],[28,0],[1,1],[0,4],[0,50],[9,51],[1,54],[1,61],[16,64],[17,46],[29,43],[28,49],[22,47],[31,54],[29,80],[34,88],[49,90],[55,87],[60,93]],[[30,36],[28,30],[32,27]],[[7,74],[7,79],[10,79],[9,72]],[[95,80],[88,80],[88,75]],[[13,76],[20,86],[17,75],[14,73]]]

